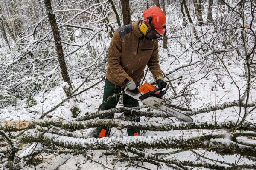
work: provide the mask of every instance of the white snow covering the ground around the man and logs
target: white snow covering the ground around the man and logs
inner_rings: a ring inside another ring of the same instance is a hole
[[[169,9],[167,10],[170,14],[173,14],[172,11]],[[245,101],[245,90],[246,90],[246,76],[247,73],[244,68],[244,59],[238,58],[233,52],[235,51],[230,50],[227,53],[221,53],[216,57],[214,54],[210,54],[210,52],[203,51],[199,45],[192,45],[190,46],[190,42],[193,42],[193,27],[188,26],[187,28],[181,27],[182,20],[177,17],[168,17],[168,25],[167,28],[170,30],[169,36],[169,44],[168,44],[168,51],[163,48],[163,41],[160,41],[160,66],[163,72],[167,75],[167,77],[171,80],[172,87],[170,88],[168,93],[163,96],[163,100],[166,104],[172,104],[175,106],[179,106],[184,109],[190,109],[190,111],[183,111],[184,113],[191,113],[191,117],[194,122],[207,122],[207,123],[216,123],[222,124],[225,122],[237,122],[241,121],[242,117],[244,116],[244,107],[239,107],[238,105],[233,107],[228,107],[224,109],[218,109],[216,111],[205,111],[204,113],[200,114],[192,114],[200,109],[210,107],[219,107],[225,103],[232,103],[237,102],[239,99],[243,99]],[[180,28],[180,30],[179,30]],[[181,29],[182,28],[182,29]],[[196,27],[198,30],[198,34],[209,33],[210,35],[219,36],[218,34],[214,34],[212,27],[207,28],[205,27]],[[199,31],[201,30],[201,32]],[[76,32],[78,34],[78,32]],[[81,34],[81,32],[79,32]],[[106,38],[106,37],[105,37]],[[211,36],[207,34],[204,35],[204,38],[207,40],[211,40]],[[208,38],[208,39],[207,39]],[[190,40],[191,39],[191,40]],[[201,38],[203,40],[203,38]],[[82,40],[79,40],[76,43],[82,44]],[[108,45],[110,39],[105,40],[104,43]],[[102,42],[95,42],[92,46],[93,49],[97,49],[96,51],[98,54],[101,54],[101,44]],[[203,43],[202,43],[203,44]],[[216,44],[212,45],[215,49],[223,48],[221,44],[218,46]],[[8,54],[7,47],[0,48],[0,59],[1,61],[6,61],[5,55]],[[69,51],[69,49],[66,49]],[[82,50],[82,52],[87,52],[87,50]],[[196,52],[195,52],[196,51]],[[221,50],[220,50],[221,51]],[[81,53],[82,53],[81,52]],[[11,54],[10,54],[11,55]],[[70,64],[72,67],[76,67],[77,65],[74,64],[75,62],[82,62],[84,58],[79,58],[79,54],[76,56],[71,56],[70,61],[67,63]],[[104,55],[105,56],[105,55]],[[74,60],[72,60],[74,59]],[[92,61],[87,61],[90,65],[96,63],[99,64],[104,59],[100,57],[95,57]],[[222,65],[225,64],[226,68]],[[6,64],[6,63],[5,63]],[[79,67],[78,64],[77,67]],[[98,65],[97,65],[98,66]],[[99,68],[90,68],[87,71],[84,69],[83,76],[72,76],[71,79],[73,81],[74,87],[79,87],[79,85],[84,83],[86,76],[88,76],[90,71],[95,69],[97,72],[93,73],[92,77],[95,78],[91,81],[85,82],[79,91],[86,89],[93,85],[94,83],[98,82],[104,76],[104,69],[105,65],[100,65]],[[73,70],[70,71],[73,73]],[[179,78],[180,77],[180,78]],[[44,77],[45,78],[45,77]],[[167,78],[166,78],[167,80]],[[3,108],[0,108],[0,121],[1,123],[11,122],[14,120],[28,120],[28,121],[37,121],[43,113],[46,113],[50,109],[54,108],[58,105],[61,101],[67,98],[64,90],[62,88],[63,84],[61,85],[61,81],[56,81],[57,85],[51,86],[51,88],[47,88],[47,83],[42,83],[46,85],[45,88],[42,88],[40,91],[33,95],[33,101],[35,102],[34,105],[28,106],[27,97],[23,100],[17,100],[16,103],[11,105],[7,105]],[[150,73],[147,74],[145,77],[144,82],[154,82]],[[51,82],[52,83],[52,82]],[[254,83],[254,82],[253,82]],[[248,103],[255,103],[256,102],[256,95],[255,95],[255,84],[252,83],[252,88],[250,88],[250,97],[248,99]],[[25,86],[25,84],[24,84]],[[47,90],[45,90],[47,88]],[[72,117],[70,112],[70,108],[76,106],[80,109],[81,113],[79,117],[95,113],[99,106],[102,103],[103,97],[103,90],[104,90],[104,81],[100,82],[93,88],[79,94],[78,96],[67,100],[63,104],[61,104],[57,109],[50,112],[45,119],[52,119],[52,120],[63,120],[63,121],[73,121],[75,120]],[[240,96],[239,96],[240,93]],[[175,96],[178,96],[175,98]],[[140,103],[140,105],[142,105]],[[122,107],[122,98],[119,100],[119,104],[117,107]],[[248,110],[252,109],[250,107]],[[155,112],[160,113],[161,111],[156,111],[153,109],[143,108],[140,110],[148,111],[148,112]],[[210,110],[210,109],[209,109]],[[120,116],[121,113],[117,113],[115,116]],[[96,118],[98,119],[98,118]],[[167,123],[173,124],[181,124],[182,122],[176,118],[150,118],[143,116],[141,117],[141,122],[148,122],[156,125],[166,125]],[[249,124],[256,123],[256,114],[250,113],[244,122]],[[28,134],[37,134],[33,130],[28,130]],[[203,135],[217,135],[223,134],[226,135],[225,138],[222,139],[210,139],[209,143],[212,144],[214,142],[221,142],[222,144],[226,144],[227,146],[233,144],[230,141],[230,131],[227,129],[216,129],[216,130],[206,130],[206,129],[193,129],[193,130],[171,130],[171,131],[149,131],[149,130],[142,130],[140,136],[136,137],[128,137],[126,129],[119,130],[117,128],[112,128],[110,137],[103,138],[103,139],[96,139],[92,136],[95,133],[94,128],[87,128],[84,130],[77,130],[73,132],[77,136],[86,136],[88,138],[73,138],[73,137],[63,137],[60,135],[53,135],[52,134],[44,134],[44,136],[48,136],[54,138],[55,140],[63,140],[66,143],[72,144],[83,144],[85,143],[93,143],[93,142],[102,142],[107,143],[109,146],[114,142],[131,142],[133,140],[141,140],[145,141],[145,143],[150,143],[151,139],[178,139],[180,136],[185,136],[184,138],[189,139],[193,137],[203,136]],[[250,140],[246,137],[240,137],[239,140],[243,142],[247,142],[247,144],[255,144],[254,137],[250,137]],[[136,142],[135,142],[136,143]],[[41,143],[33,143],[32,145],[24,143],[22,146],[22,150],[18,152],[19,157],[24,157],[31,153],[34,150],[41,150],[45,146]],[[0,147],[0,150],[3,149]],[[180,148],[182,149],[182,148]],[[60,148],[61,150],[61,148]],[[195,150],[183,150],[182,152],[177,152],[179,149],[143,149],[137,150],[145,154],[145,159],[151,159],[152,156],[159,156],[161,159],[166,160],[178,160],[178,161],[192,161],[195,163],[209,163],[209,164],[217,164],[220,162],[224,162],[224,165],[242,165],[242,164],[254,164],[255,162],[249,160],[246,157],[240,157],[238,154],[234,155],[221,155],[216,152],[211,152],[209,150],[204,149],[195,149]],[[123,151],[125,152],[125,151]],[[48,154],[43,153],[41,156],[38,156],[37,159],[41,161],[39,164],[36,164],[34,168],[32,167],[24,167],[23,169],[42,169],[42,170],[106,170],[106,169],[115,169],[115,170],[143,170],[143,169],[151,169],[151,170],[172,170],[172,168],[168,166],[168,164],[162,163],[161,166],[157,166],[153,163],[137,161],[136,164],[132,163],[129,158],[124,160],[122,157],[122,152],[116,149],[108,149],[108,150],[90,150],[88,149],[86,155],[72,155],[72,154],[64,154],[61,153],[59,155],[55,154]],[[164,154],[166,153],[166,154]],[[136,158],[137,155],[128,153],[126,154],[130,157]],[[208,159],[206,159],[207,157]],[[212,159],[212,160],[211,160]],[[122,161],[120,161],[122,160]],[[215,160],[215,161],[213,161]],[[174,163],[173,163],[174,164]],[[0,169],[3,169],[2,165],[0,165]],[[193,167],[192,169],[197,169]],[[198,168],[199,169],[199,168]],[[200,169],[210,169],[210,168],[200,168]]]

